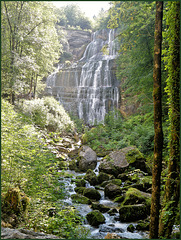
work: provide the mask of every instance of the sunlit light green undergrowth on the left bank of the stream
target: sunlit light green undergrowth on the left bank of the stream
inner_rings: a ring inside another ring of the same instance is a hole
[[[1,104],[1,190],[4,194],[10,188],[18,188],[30,199],[26,222],[20,222],[20,226],[60,238],[85,237],[87,230],[81,226],[81,217],[72,208],[62,208],[59,202],[66,194],[58,181],[63,172],[58,172],[59,160],[46,147],[48,134],[38,131],[33,118],[15,112],[7,101],[2,99]],[[45,106],[59,110],[51,99],[46,99]],[[49,213],[52,208],[56,212],[53,217]]]

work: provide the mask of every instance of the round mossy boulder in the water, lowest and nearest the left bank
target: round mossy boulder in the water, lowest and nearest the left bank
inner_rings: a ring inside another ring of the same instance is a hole
[[[99,226],[102,223],[105,223],[105,217],[98,210],[93,210],[92,212],[86,215],[86,219],[91,226]]]

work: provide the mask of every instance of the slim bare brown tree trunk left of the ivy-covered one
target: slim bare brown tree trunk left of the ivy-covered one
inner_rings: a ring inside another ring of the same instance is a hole
[[[162,101],[161,101],[161,48],[162,48],[162,19],[163,2],[156,2],[155,36],[154,36],[154,65],[153,65],[153,103],[154,103],[154,158],[152,170],[152,198],[150,238],[158,238],[160,211],[160,178],[162,170]]]

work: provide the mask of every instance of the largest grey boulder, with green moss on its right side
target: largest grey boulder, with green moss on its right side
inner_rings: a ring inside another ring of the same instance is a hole
[[[102,160],[99,171],[113,174],[117,177],[129,168],[138,168],[146,173],[151,173],[144,156],[136,147],[127,147],[119,151],[111,152]]]

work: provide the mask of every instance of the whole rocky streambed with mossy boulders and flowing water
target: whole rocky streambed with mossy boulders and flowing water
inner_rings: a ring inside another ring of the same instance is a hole
[[[151,172],[139,150],[128,147],[97,157],[91,148],[79,145],[67,154],[60,179],[67,196],[61,204],[84,217],[89,238],[148,238]]]

